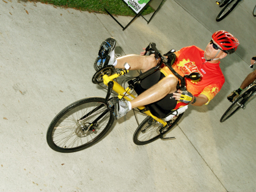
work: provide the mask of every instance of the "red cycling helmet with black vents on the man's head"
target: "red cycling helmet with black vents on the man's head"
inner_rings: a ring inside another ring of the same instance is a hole
[[[234,53],[239,45],[237,38],[224,30],[214,32],[212,39],[220,45],[225,53],[229,54]]]

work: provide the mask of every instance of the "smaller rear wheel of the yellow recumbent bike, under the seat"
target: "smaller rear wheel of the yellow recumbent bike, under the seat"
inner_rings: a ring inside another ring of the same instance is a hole
[[[167,127],[166,130],[163,130],[162,133],[167,133],[170,131],[177,122],[179,122],[181,116],[171,119],[171,126]],[[146,119],[139,124],[137,130],[134,132],[133,135],[133,142],[137,145],[145,145],[159,139],[161,133],[160,130],[163,128],[163,124],[157,122],[151,116],[147,116]]]

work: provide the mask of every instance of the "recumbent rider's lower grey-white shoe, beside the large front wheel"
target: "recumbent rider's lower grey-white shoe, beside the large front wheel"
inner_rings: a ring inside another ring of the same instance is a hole
[[[126,115],[129,111],[129,103],[127,101],[122,101],[117,98],[110,99],[110,105],[112,104],[114,106],[114,118],[119,119],[123,115]]]

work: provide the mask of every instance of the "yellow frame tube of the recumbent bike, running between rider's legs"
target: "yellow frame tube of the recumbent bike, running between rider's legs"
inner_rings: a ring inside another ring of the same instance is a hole
[[[129,70],[127,70],[127,73],[129,72]],[[108,85],[108,82],[109,81],[113,81],[115,78],[117,77],[120,77],[122,76],[123,74],[125,74],[123,71],[121,72],[121,74],[113,74],[112,76],[109,76],[108,75],[104,75],[103,76],[103,79],[104,79],[104,84],[105,85]],[[130,94],[130,88],[127,87],[126,89],[123,89],[123,87],[121,85],[119,85],[117,82],[113,81],[114,82],[114,86],[113,86],[113,90],[118,93],[118,98],[121,99],[121,98],[125,98],[127,101],[131,101],[135,98],[135,96],[133,94]],[[126,95],[125,95],[126,94]],[[125,95],[125,96],[123,96]],[[139,106],[137,107],[139,110],[143,110],[145,108],[145,106]],[[157,118],[156,116],[152,115],[151,112],[149,110],[147,111],[144,111],[144,114],[147,114],[148,116],[151,116],[153,119],[155,119],[156,121],[158,121],[159,123],[162,123],[163,126],[166,126],[167,123],[164,122],[162,119],[159,119]]]

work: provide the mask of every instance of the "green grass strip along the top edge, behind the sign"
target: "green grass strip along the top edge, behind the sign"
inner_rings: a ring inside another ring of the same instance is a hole
[[[37,0],[59,7],[73,8],[81,11],[106,14],[104,7],[113,15],[134,16],[133,12],[122,0]],[[147,6],[142,15],[147,15],[154,10]]]

